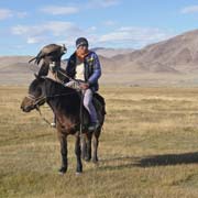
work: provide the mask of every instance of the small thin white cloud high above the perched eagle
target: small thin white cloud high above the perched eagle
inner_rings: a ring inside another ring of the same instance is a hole
[[[73,14],[77,13],[79,9],[77,7],[57,7],[57,6],[48,6],[41,9],[42,12],[53,14],[53,15],[64,15],[64,14]]]

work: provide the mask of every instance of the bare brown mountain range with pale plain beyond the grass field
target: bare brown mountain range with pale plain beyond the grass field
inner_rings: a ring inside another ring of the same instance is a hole
[[[103,82],[134,85],[198,84],[198,30],[169,40],[132,48],[92,48],[100,58]],[[0,56],[0,84],[28,84],[38,67],[29,65],[31,56]],[[173,80],[169,81],[170,78]],[[18,79],[19,78],[19,79]],[[162,79],[162,80],[161,80]]]

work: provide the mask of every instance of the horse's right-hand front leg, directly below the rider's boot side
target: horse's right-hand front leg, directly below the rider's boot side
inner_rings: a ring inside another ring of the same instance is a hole
[[[80,151],[80,136],[78,133],[76,135],[75,153],[76,153],[76,158],[77,158],[76,173],[81,173],[82,164],[81,164],[81,151]]]

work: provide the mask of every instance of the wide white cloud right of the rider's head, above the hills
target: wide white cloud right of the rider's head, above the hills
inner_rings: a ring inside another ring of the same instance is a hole
[[[98,38],[99,43],[111,45],[130,45],[131,47],[143,47],[173,36],[170,31],[151,28],[123,26]]]

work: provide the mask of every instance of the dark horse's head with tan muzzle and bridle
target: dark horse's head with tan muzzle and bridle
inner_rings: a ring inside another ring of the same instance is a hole
[[[46,101],[45,78],[35,75],[35,79],[29,87],[29,95],[23,99],[21,109],[24,112],[30,112],[38,109]]]

